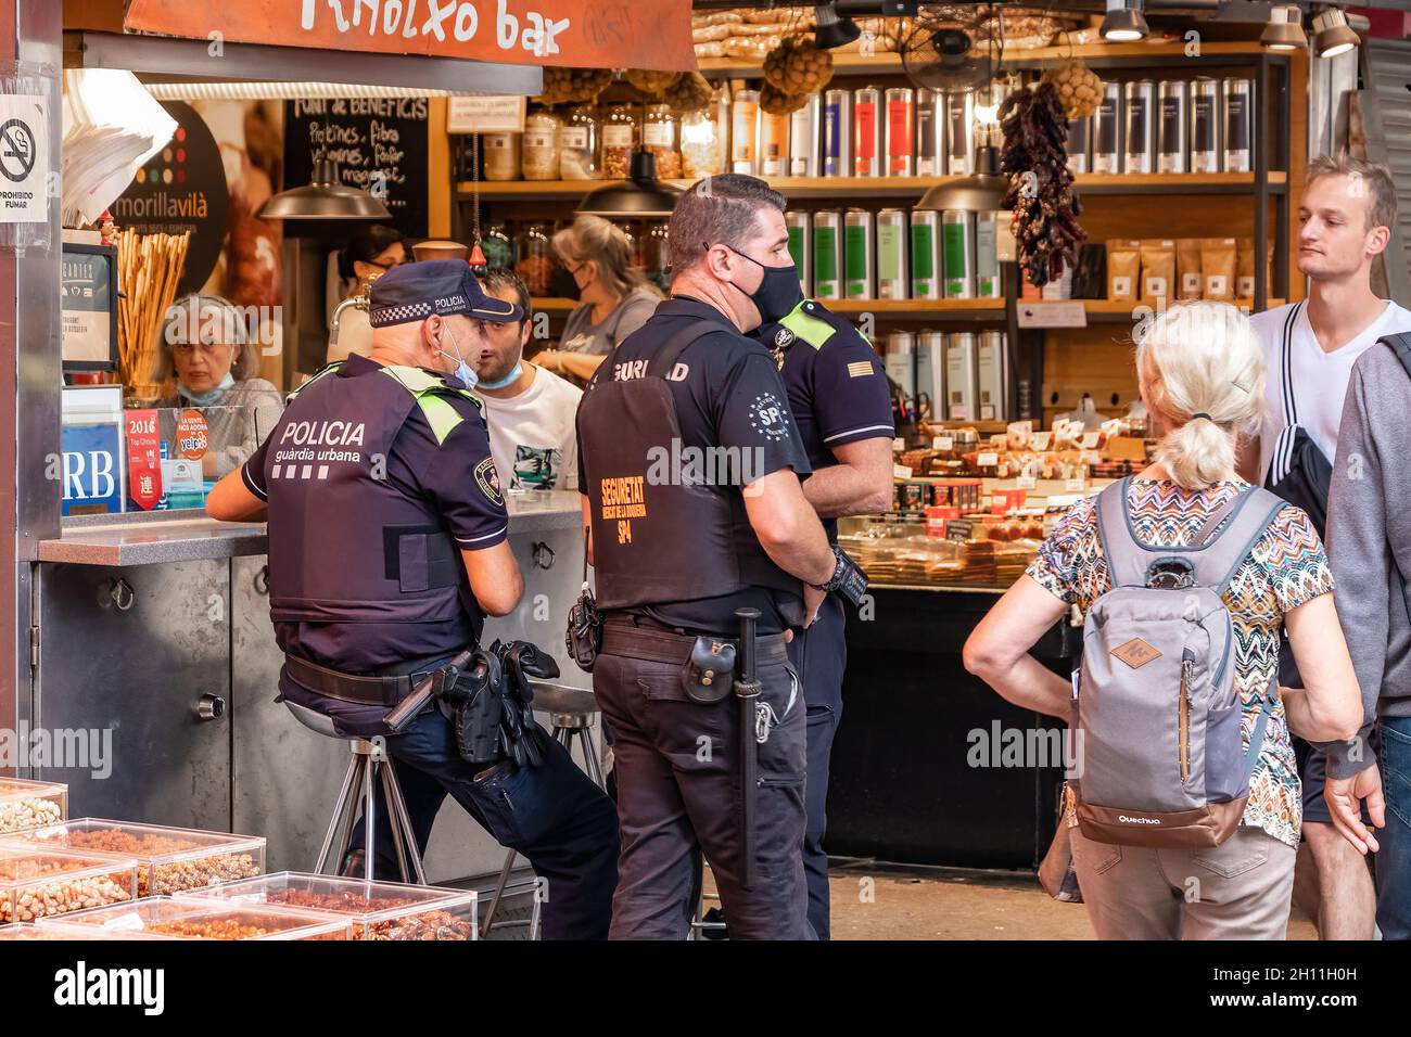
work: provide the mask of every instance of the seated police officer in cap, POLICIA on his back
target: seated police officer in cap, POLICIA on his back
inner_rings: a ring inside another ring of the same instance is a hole
[[[546,938],[607,934],[617,875],[611,800],[556,744],[539,766],[477,769],[428,707],[384,722],[428,674],[509,612],[523,580],[466,357],[478,322],[519,319],[464,262],[398,267],[373,286],[373,350],[315,375],[264,444],[206,502],[217,519],[268,508],[270,614],[291,710],[343,736],[391,735],[422,851],[450,793],[547,880]],[[450,377],[446,371],[456,371]],[[547,741],[547,739],[545,739]],[[381,789],[378,790],[381,793]],[[396,872],[385,804],[378,873]]]

